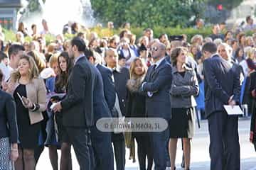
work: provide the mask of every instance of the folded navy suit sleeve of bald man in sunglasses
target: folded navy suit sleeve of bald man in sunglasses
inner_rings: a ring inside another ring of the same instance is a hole
[[[168,65],[169,66],[169,65]],[[164,67],[159,70],[159,74],[153,82],[146,82],[143,85],[143,91],[159,91],[166,83],[170,83],[172,80],[171,66]]]

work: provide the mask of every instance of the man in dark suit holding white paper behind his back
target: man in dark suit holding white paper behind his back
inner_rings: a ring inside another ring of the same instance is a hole
[[[223,105],[234,106],[240,99],[240,77],[232,65],[216,54],[213,42],[203,45],[207,59],[205,77],[206,118],[210,133],[210,169],[240,169],[238,116],[228,115]]]

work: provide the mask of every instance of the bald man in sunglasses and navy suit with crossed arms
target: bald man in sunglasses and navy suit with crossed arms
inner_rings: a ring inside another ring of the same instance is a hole
[[[171,64],[165,60],[165,45],[156,42],[151,46],[154,64],[149,67],[142,91],[146,92],[146,115],[149,118],[171,118]],[[163,132],[151,132],[151,145],[156,170],[166,169],[166,145],[169,140],[169,129]]]

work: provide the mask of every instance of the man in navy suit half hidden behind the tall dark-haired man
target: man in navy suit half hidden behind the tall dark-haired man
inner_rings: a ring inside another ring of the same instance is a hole
[[[85,50],[85,56],[93,65],[99,65],[97,64],[97,59],[94,57],[92,50]],[[114,170],[114,154],[112,149],[111,133],[101,132],[96,128],[97,120],[100,118],[111,118],[111,113],[105,100],[102,75],[96,67],[95,72],[96,79],[93,91],[94,125],[91,129],[92,148],[95,154],[95,170]],[[107,91],[107,89],[105,90]]]

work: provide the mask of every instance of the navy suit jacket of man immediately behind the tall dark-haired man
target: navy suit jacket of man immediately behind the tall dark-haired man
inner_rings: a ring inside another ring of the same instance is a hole
[[[107,106],[107,102],[104,96],[103,81],[100,72],[95,68],[96,79],[93,91],[93,111],[94,111],[94,122],[100,118],[110,118],[110,109]]]

